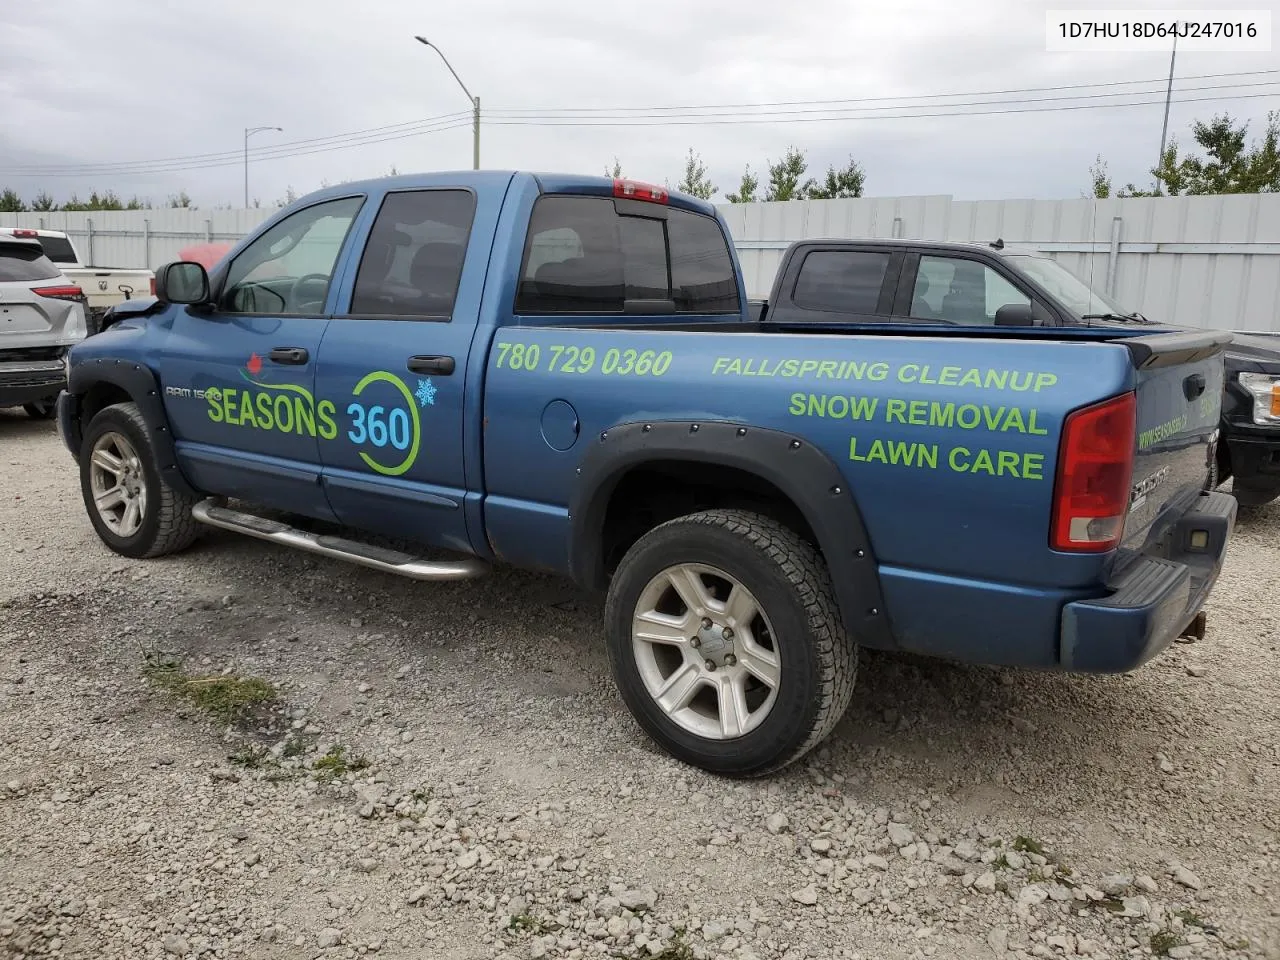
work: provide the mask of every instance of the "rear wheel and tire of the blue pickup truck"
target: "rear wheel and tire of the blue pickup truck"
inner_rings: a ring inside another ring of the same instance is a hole
[[[858,645],[826,563],[758,513],[692,513],[640,538],[609,585],[605,628],[613,678],[636,722],[712,773],[782,769],[832,731],[852,696]],[[727,700],[737,709],[726,713]]]

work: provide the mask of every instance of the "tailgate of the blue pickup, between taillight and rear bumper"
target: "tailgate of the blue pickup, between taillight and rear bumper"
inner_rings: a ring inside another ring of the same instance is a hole
[[[1137,367],[1133,486],[1121,545],[1142,549],[1196,502],[1208,479],[1230,334],[1167,333],[1125,340]]]

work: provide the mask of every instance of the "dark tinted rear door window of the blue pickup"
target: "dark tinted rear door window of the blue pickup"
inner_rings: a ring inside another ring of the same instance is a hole
[[[474,215],[470,191],[389,193],[365,244],[351,312],[452,316]]]

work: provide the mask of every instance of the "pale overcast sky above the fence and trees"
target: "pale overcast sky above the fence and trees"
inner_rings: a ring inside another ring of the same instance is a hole
[[[1226,4],[1199,0],[1197,5]],[[1231,4],[1271,9],[1274,15],[1277,0]],[[210,0],[197,6],[189,0],[0,0],[0,188],[12,186],[28,200],[40,189],[58,198],[72,191],[83,197],[96,188],[155,200],[186,189],[204,206],[239,206],[244,127],[284,128],[253,137],[252,146],[264,150],[467,111],[466,97],[439,56],[415,42],[415,33],[440,46],[481,97],[485,115],[495,120],[499,111],[512,110],[545,115],[605,108],[616,118],[622,108],[814,100],[877,99],[867,105],[892,108],[881,109],[874,119],[812,119],[815,114],[809,113],[796,115],[806,122],[485,124],[481,163],[488,168],[602,173],[617,156],[630,177],[676,183],[692,146],[723,195],[736,188],[744,164],[763,170],[767,160],[794,143],[819,172],[852,155],[867,172],[870,196],[1075,197],[1088,186],[1088,168],[1100,152],[1117,184],[1147,184],[1158,151],[1162,104],[895,119],[908,113],[893,106],[895,97],[1152,81],[1167,74],[1167,54],[1046,52],[1044,12],[1083,6],[1108,4]],[[1161,4],[1128,0],[1114,6]],[[1280,26],[1280,17],[1276,22]],[[1179,52],[1176,61],[1176,76],[1187,78],[1276,69],[1276,50]],[[1185,79],[1183,86],[1228,82]],[[1187,142],[1194,118],[1229,110],[1252,119],[1251,129],[1260,132],[1267,110],[1280,109],[1280,73],[1235,82],[1268,86],[1236,87],[1228,91],[1235,96],[1220,101],[1180,104],[1179,97],[1213,91],[1179,93],[1175,83],[1170,131]],[[1142,97],[1093,102],[1133,99]],[[820,106],[817,115],[829,109]],[[721,119],[740,119],[719,113]],[[457,119],[462,125],[436,133],[255,159],[251,196],[270,202],[289,187],[305,193],[324,180],[380,175],[393,165],[401,173],[470,168],[468,114]],[[380,136],[404,129],[413,132],[408,127]],[[198,169],[74,169],[225,154],[232,156],[212,157],[223,165]],[[17,173],[33,168],[40,168],[37,175]]]

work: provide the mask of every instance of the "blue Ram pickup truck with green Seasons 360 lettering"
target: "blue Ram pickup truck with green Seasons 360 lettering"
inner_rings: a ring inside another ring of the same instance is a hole
[[[868,302],[837,302],[846,270]],[[124,556],[212,526],[607,589],[637,723],[760,776],[832,730],[863,646],[1105,673],[1203,631],[1235,522],[1204,490],[1226,335],[1037,324],[1052,298],[998,261],[964,293],[989,326],[892,321],[919,270],[814,248],[753,319],[707,202],[348,183],[211,274],[161,268],[70,352],[59,429]]]

